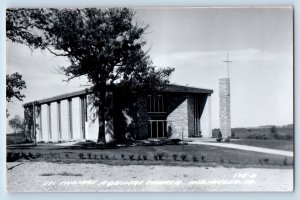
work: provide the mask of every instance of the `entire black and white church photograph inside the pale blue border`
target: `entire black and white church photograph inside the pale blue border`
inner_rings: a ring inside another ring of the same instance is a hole
[[[7,8],[7,191],[293,192],[293,12]]]

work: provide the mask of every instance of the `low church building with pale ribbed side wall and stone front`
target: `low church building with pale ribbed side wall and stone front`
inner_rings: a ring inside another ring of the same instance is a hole
[[[59,142],[97,140],[98,121],[92,122],[95,113],[87,103],[91,89],[45,98],[23,105],[27,120],[27,137],[34,141]],[[211,95],[209,89],[169,84],[162,92],[142,97],[138,103],[136,140],[148,138],[209,138],[211,128]],[[122,97],[114,94],[118,100]],[[118,109],[114,105],[114,109]],[[33,112],[33,110],[35,112]],[[114,135],[124,129],[118,117],[106,127],[106,142],[114,140]]]

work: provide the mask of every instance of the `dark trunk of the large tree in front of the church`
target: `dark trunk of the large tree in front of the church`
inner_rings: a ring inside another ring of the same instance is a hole
[[[98,129],[98,143],[105,144],[105,105],[106,105],[106,91],[100,91],[100,103],[99,103],[99,110],[98,110],[98,122],[99,122],[99,129]]]

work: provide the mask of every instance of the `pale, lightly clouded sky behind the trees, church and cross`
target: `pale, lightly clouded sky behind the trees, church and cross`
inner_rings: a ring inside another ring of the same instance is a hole
[[[219,127],[218,80],[229,53],[232,127],[293,123],[293,12],[291,8],[136,8],[149,24],[144,35],[158,67],[174,67],[171,83],[212,89],[212,127]],[[7,73],[27,83],[24,102],[81,90],[57,72],[68,60],[7,40]],[[23,116],[22,103],[7,108]]]

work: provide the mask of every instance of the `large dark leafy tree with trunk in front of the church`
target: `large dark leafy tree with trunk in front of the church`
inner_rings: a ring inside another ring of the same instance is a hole
[[[88,78],[98,108],[98,142],[105,142],[112,88],[139,94],[160,90],[173,71],[152,66],[144,49],[147,26],[134,20],[131,9],[9,9],[6,16],[11,41],[68,57],[70,65],[60,67],[68,81]]]

